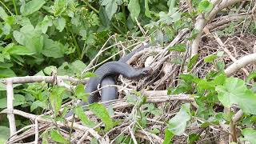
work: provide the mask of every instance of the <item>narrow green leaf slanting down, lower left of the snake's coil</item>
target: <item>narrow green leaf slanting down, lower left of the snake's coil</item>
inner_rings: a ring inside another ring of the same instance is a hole
[[[74,109],[74,113],[78,116],[78,118],[82,120],[82,124],[84,124],[85,126],[88,126],[90,128],[96,126],[96,124],[86,116],[86,114],[82,110],[82,106],[76,107]]]

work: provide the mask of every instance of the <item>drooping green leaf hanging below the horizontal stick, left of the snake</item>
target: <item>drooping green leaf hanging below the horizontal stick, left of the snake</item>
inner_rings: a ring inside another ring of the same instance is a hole
[[[64,87],[54,86],[50,92],[50,105],[54,110],[55,116],[58,115],[58,111],[61,109],[62,106],[62,95],[65,92]]]

